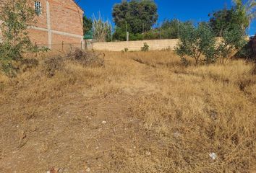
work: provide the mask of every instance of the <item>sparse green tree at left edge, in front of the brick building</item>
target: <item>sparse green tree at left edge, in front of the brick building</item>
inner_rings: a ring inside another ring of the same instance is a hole
[[[9,76],[15,76],[15,64],[22,61],[22,54],[33,48],[28,37],[27,27],[35,22],[35,11],[26,0],[15,0],[4,4],[0,19],[3,42],[0,44],[0,69]]]

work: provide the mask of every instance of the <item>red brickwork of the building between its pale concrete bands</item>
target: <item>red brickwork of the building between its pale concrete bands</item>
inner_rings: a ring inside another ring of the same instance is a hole
[[[7,1],[7,0],[0,0]],[[12,0],[8,0],[12,1]],[[34,8],[34,1],[28,0]],[[35,27],[30,28],[29,35],[33,43],[48,46],[47,0],[37,0],[42,5],[42,14],[35,17]],[[82,41],[82,9],[72,0],[48,0],[51,19],[52,44],[74,43],[80,45]],[[1,3],[0,3],[1,6]],[[1,8],[0,8],[1,9]],[[54,33],[53,33],[54,32]],[[56,33],[59,32],[59,33]],[[1,33],[0,33],[1,34]],[[59,35],[58,35],[59,34]],[[71,34],[71,35],[69,35]],[[80,36],[80,37],[79,37]]]

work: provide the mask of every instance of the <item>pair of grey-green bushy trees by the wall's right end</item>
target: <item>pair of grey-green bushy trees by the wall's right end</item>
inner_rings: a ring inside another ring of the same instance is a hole
[[[207,24],[198,27],[181,25],[179,31],[180,43],[176,53],[182,58],[194,58],[195,63],[205,61],[226,63],[234,54],[246,45],[241,26],[223,31],[222,39],[217,43],[213,30]]]

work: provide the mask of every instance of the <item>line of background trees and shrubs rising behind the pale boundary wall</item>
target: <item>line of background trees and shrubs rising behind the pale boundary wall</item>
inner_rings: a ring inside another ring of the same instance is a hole
[[[202,23],[209,25],[214,35],[218,37],[237,25],[246,32],[249,23],[256,16],[255,4],[255,0],[248,0],[244,4],[242,0],[234,0],[234,6],[230,9],[225,7],[213,12],[209,14],[210,20]],[[106,30],[109,31],[106,34],[106,41],[127,40],[127,32],[129,32],[129,40],[174,39],[179,37],[179,29],[182,25],[193,25],[190,21],[166,19],[160,26],[153,27],[158,20],[158,7],[153,0],[121,1],[119,4],[114,4],[112,16],[115,23],[114,30],[110,22],[104,22],[101,19],[101,22],[106,24],[105,27],[108,27]],[[93,27],[96,24],[97,22],[93,22],[93,19],[84,17],[84,32],[98,32]]]

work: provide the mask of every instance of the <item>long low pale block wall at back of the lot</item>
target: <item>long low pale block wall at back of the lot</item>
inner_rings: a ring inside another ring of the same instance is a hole
[[[129,51],[140,50],[144,43],[149,45],[150,50],[163,50],[171,48],[174,50],[178,39],[166,39],[166,40],[140,40],[140,41],[124,41],[124,42],[104,42],[104,43],[93,43],[93,50],[108,50],[108,51],[121,51],[124,48],[128,48]]]

